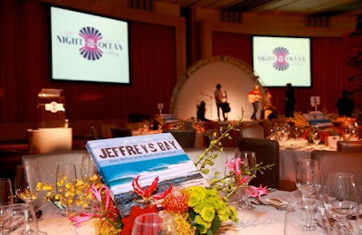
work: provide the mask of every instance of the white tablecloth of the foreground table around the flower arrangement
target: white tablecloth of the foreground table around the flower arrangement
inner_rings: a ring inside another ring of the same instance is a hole
[[[300,193],[274,191],[262,198],[266,197],[277,197],[292,202],[300,199]],[[58,213],[59,209],[52,202],[43,203],[38,210],[43,211],[43,216],[38,221],[39,230],[42,231],[41,234],[71,235],[76,234],[75,231],[81,235],[95,234],[93,221],[87,221],[75,230],[71,221],[67,217],[60,215]],[[283,234],[285,211],[279,211],[271,206],[256,205],[253,210],[237,210],[237,213],[239,222],[232,227],[227,227],[222,234],[265,235],[271,231],[273,234]]]

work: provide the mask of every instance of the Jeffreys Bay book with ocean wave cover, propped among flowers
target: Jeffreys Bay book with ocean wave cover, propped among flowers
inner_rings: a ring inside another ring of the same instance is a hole
[[[103,182],[120,215],[127,216],[135,199],[132,181],[150,185],[158,176],[157,193],[172,185],[187,187],[207,185],[195,164],[170,133],[91,140],[86,148],[94,160]]]

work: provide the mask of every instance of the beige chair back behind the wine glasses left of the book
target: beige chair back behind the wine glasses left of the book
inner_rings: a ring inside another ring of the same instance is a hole
[[[22,164],[38,164],[43,183],[56,183],[58,164],[74,164],[77,177],[81,179],[81,158],[87,155],[86,150],[72,150],[51,154],[23,155]]]

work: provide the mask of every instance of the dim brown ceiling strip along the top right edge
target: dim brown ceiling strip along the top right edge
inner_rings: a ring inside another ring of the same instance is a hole
[[[361,0],[160,0],[181,7],[209,8],[253,14],[356,17]]]

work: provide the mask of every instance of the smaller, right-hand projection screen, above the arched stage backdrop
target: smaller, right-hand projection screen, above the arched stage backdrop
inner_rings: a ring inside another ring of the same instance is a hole
[[[265,87],[310,88],[310,38],[252,36],[252,65]]]

